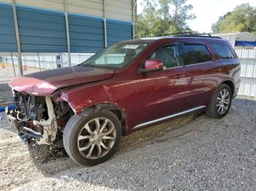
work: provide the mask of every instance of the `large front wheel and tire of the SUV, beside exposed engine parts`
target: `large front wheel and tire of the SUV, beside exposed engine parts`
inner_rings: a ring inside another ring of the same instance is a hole
[[[121,141],[121,122],[110,111],[73,115],[63,132],[64,148],[76,163],[97,165],[108,160]]]

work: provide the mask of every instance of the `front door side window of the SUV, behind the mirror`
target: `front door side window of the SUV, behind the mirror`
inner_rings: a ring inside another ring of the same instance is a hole
[[[165,67],[164,69],[180,66],[178,44],[170,44],[165,47],[158,48],[151,54],[150,59],[161,60]]]

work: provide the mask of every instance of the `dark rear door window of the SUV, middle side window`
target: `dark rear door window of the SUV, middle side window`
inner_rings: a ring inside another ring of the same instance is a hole
[[[185,65],[211,61],[211,54],[203,44],[184,44]]]

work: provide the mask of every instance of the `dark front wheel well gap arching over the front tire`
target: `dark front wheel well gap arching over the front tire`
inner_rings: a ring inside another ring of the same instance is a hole
[[[112,103],[104,103],[104,104],[97,104],[94,106],[90,106],[89,108],[86,108],[83,114],[88,114],[90,112],[99,112],[103,110],[108,110],[110,112],[113,112],[113,114],[116,114],[116,117],[118,120],[121,122],[121,128],[122,128],[122,133],[126,130],[127,126],[127,119],[125,113],[116,105]]]

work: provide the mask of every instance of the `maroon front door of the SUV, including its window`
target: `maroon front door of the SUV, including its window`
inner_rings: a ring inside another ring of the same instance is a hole
[[[184,110],[186,79],[179,44],[158,47],[148,59],[161,60],[164,70],[138,74],[136,112],[140,122],[156,120]]]

